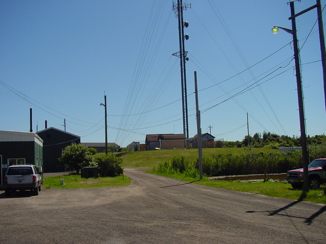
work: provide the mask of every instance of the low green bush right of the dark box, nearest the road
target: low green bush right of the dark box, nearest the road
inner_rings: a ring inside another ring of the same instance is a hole
[[[122,159],[114,154],[105,154],[95,159],[101,177],[114,177],[123,172]]]

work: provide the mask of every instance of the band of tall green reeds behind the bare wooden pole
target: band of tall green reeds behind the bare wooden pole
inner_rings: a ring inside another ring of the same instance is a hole
[[[286,173],[302,167],[302,152],[219,154],[203,157],[203,173],[207,176]],[[198,159],[190,161],[184,156],[174,156],[171,161],[153,168],[159,174],[184,174],[197,178]]]

